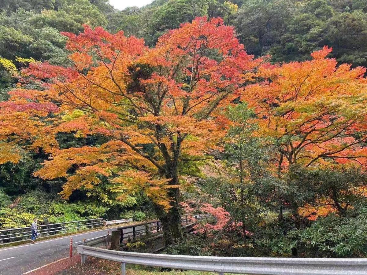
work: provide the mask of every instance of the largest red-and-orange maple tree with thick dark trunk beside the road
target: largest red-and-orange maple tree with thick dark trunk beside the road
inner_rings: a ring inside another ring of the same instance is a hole
[[[30,64],[22,72],[25,87],[0,105],[1,161],[42,148],[50,160],[36,175],[66,177],[64,198],[102,176],[123,190],[121,199],[143,191],[167,239],[180,238],[180,176],[217,148],[225,135],[222,109],[254,81],[262,60],[247,55],[220,18],[182,24],[151,49],[101,27],[63,35],[70,64]],[[27,88],[30,82],[39,88]],[[60,149],[62,132],[106,142]]]

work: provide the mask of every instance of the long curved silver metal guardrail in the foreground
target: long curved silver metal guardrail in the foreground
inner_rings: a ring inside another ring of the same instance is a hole
[[[196,270],[234,274],[274,275],[365,275],[367,259],[364,258],[265,258],[265,257],[206,257],[121,252],[115,250],[77,246],[84,264],[87,256],[121,263],[121,273],[126,274],[125,264]]]

